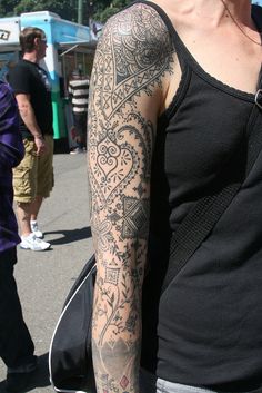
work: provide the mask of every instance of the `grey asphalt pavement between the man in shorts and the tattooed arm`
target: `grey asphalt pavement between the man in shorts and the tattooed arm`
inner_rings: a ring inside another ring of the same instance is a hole
[[[18,246],[14,275],[39,356],[39,369],[23,392],[48,393],[53,392],[48,375],[52,333],[69,289],[92,254],[84,154],[54,155],[54,188],[43,202],[38,222],[51,249],[31,252]],[[6,393],[6,372],[0,360],[0,393]]]

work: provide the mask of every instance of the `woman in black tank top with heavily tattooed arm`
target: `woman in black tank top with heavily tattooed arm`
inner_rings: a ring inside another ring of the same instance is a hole
[[[262,127],[261,21],[250,0],[154,0],[104,27],[88,146],[98,393],[262,391],[261,155],[160,295],[172,234]]]

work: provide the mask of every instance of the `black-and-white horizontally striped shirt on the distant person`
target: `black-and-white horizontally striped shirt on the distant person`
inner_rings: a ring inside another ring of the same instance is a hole
[[[72,97],[73,112],[82,114],[88,110],[89,80],[70,80],[68,87],[69,95]]]

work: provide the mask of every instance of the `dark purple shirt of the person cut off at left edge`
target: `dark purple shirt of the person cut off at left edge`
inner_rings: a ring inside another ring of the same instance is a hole
[[[11,88],[0,81],[0,259],[1,253],[20,243],[13,213],[12,168],[23,158],[17,101]]]

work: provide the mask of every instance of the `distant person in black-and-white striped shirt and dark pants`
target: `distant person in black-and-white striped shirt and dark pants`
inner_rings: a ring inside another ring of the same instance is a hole
[[[87,149],[89,78],[82,77],[80,71],[74,70],[72,72],[72,80],[69,82],[68,91],[72,100],[73,126],[77,143],[77,147],[71,150],[71,154],[83,153]]]

